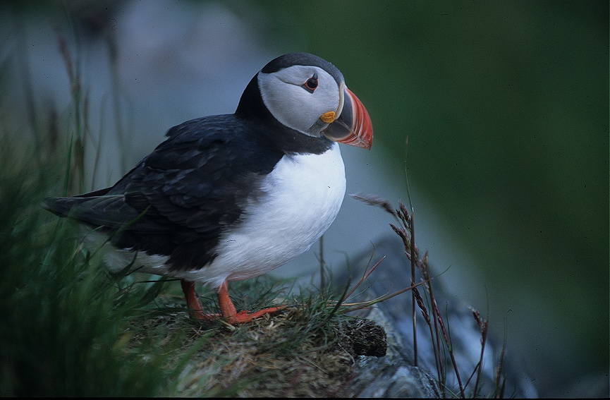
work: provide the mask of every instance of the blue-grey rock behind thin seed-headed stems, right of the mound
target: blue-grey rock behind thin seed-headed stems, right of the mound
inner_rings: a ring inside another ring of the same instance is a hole
[[[385,256],[382,264],[367,278],[367,299],[389,294],[389,291],[410,286],[410,262],[405,256],[401,238],[387,236],[375,246],[376,257]],[[353,277],[362,276],[362,270],[354,266],[367,265],[370,253],[354,257],[350,265]],[[372,260],[374,263],[375,260]],[[347,269],[344,269],[347,270]],[[421,276],[415,281],[420,281]],[[347,284],[347,274],[336,279],[338,284]],[[353,284],[353,282],[352,282]],[[477,365],[481,354],[482,333],[472,313],[472,309],[451,296],[442,277],[432,281],[434,297],[441,309],[447,329],[451,335],[453,354],[458,365],[458,372],[466,396],[473,396]],[[423,286],[418,288],[424,298],[429,300]],[[360,299],[362,300],[362,299]],[[351,301],[351,299],[350,299]],[[429,305],[427,306],[430,313]],[[383,327],[387,335],[387,353],[385,357],[362,357],[358,359],[356,376],[350,382],[347,396],[415,396],[435,397],[441,395],[437,382],[439,374],[434,356],[429,326],[417,308],[417,366],[415,366],[413,345],[413,317],[411,291],[406,291],[389,300],[377,303],[372,310],[360,313],[359,316],[374,321]],[[446,353],[446,352],[445,352]],[[501,363],[502,360],[502,363]],[[456,373],[451,360],[444,359],[446,368],[447,395],[460,396]],[[501,364],[501,379],[496,380],[496,371]],[[472,379],[469,378],[472,375]],[[499,382],[499,383],[498,383]],[[504,391],[496,393],[496,387],[504,382]],[[477,396],[516,396],[536,397],[537,389],[531,378],[520,368],[518,356],[511,349],[504,349],[503,341],[488,332],[484,349],[479,390]]]

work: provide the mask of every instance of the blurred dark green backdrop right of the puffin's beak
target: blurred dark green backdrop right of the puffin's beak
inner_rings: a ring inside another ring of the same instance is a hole
[[[400,171],[406,152],[543,394],[607,384],[607,1],[222,4],[277,54],[322,56],[358,88],[375,147]]]

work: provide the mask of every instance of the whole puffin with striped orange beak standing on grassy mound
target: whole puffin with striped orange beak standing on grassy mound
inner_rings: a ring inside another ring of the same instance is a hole
[[[179,279],[190,316],[250,322],[283,307],[237,311],[228,283],[280,267],[334,222],[346,191],[339,143],[370,150],[360,99],[329,61],[305,52],[269,61],[233,114],[173,126],[108,188],[44,198],[82,229],[111,272]],[[195,284],[216,290],[206,314]]]

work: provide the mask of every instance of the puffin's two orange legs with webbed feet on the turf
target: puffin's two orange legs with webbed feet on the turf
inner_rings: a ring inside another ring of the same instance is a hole
[[[185,281],[184,279],[181,281],[182,291],[184,292],[184,296],[186,298],[186,305],[190,311],[190,315],[195,318],[199,318],[200,320],[212,320],[219,315],[207,315],[203,313],[203,308],[199,299],[197,298],[197,294],[195,294],[195,283],[191,281]],[[285,307],[271,307],[265,308],[264,310],[259,310],[255,313],[248,313],[248,311],[240,311],[237,312],[235,305],[233,305],[233,301],[228,296],[228,285],[226,282],[221,284],[218,288],[218,303],[220,306],[220,313],[222,317],[229,324],[243,324],[244,322],[250,322],[252,319],[260,317],[265,314],[275,313],[276,311],[282,310]]]

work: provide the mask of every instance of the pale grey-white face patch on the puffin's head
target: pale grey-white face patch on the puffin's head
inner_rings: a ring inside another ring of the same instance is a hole
[[[314,90],[304,87],[317,78]],[[319,137],[327,128],[320,116],[328,111],[341,114],[341,90],[327,71],[316,66],[291,66],[274,73],[259,73],[262,101],[283,125],[306,135]]]

